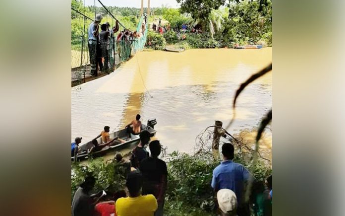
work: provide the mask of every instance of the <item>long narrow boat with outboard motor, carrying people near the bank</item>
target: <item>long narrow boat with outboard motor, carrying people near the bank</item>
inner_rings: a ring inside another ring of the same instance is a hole
[[[152,120],[149,120],[149,121],[152,121]],[[149,123],[149,121],[148,121],[148,123]],[[156,120],[154,120],[154,121],[156,122]],[[141,130],[147,130],[150,132],[150,134],[153,134],[154,136],[156,135],[156,132],[157,132],[154,129],[154,125],[146,126],[146,125],[141,124]],[[115,131],[113,133],[110,133],[109,135],[110,135],[110,139],[118,137],[122,140],[125,140],[126,142],[121,143],[121,144],[117,144],[117,145],[113,145],[113,146],[109,146],[109,145],[105,146],[100,151],[93,152],[90,155],[87,153],[87,149],[90,149],[92,146],[94,146],[94,144],[92,144],[92,141],[85,143],[85,144],[80,144],[79,145],[80,151],[83,153],[77,154],[77,160],[85,160],[85,159],[88,159],[89,156],[92,156],[93,158],[100,157],[100,156],[105,155],[106,153],[115,152],[115,151],[121,150],[123,148],[134,148],[134,146],[139,144],[139,141],[140,141],[139,136],[132,137],[132,138],[134,138],[134,139],[132,139],[131,136],[127,133],[126,129]],[[102,143],[101,138],[98,138],[97,142],[99,144],[101,144]],[[71,160],[73,161],[74,157],[71,157]]]

